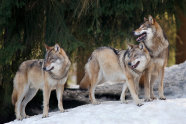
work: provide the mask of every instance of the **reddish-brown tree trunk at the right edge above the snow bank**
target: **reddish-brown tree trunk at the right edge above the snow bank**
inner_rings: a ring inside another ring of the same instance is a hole
[[[186,60],[186,17],[179,8],[176,9],[176,19],[176,64],[179,64]]]

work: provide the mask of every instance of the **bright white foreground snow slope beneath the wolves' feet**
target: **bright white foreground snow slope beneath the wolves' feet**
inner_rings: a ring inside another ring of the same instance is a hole
[[[51,112],[48,118],[36,115],[8,124],[183,124],[186,122],[186,98],[155,100],[136,106],[107,101],[100,105],[83,105],[68,112]]]

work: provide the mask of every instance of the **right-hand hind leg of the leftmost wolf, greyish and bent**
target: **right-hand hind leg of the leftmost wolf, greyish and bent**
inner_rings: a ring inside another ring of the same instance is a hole
[[[22,114],[23,114],[23,118],[28,118],[29,116],[26,115],[25,113],[25,107],[28,104],[28,102],[30,102],[30,100],[33,99],[33,97],[36,95],[38,89],[34,89],[34,88],[29,88],[28,92],[26,93],[23,101],[22,101]]]

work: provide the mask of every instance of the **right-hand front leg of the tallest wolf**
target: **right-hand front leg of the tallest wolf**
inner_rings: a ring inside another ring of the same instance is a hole
[[[164,78],[164,68],[162,67],[159,72],[159,98],[161,100],[166,100],[166,97],[164,96],[164,90],[163,90],[163,78]]]

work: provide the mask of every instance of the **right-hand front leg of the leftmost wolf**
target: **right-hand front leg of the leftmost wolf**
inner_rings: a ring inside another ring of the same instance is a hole
[[[58,100],[58,108],[60,112],[64,112],[63,109],[63,91],[64,91],[64,84],[58,84],[56,88],[56,95]]]

